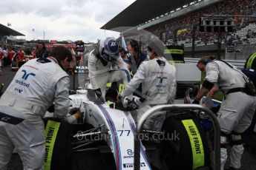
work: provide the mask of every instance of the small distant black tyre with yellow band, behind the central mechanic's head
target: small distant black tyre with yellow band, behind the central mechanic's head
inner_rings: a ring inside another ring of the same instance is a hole
[[[164,54],[169,63],[185,63],[184,48],[182,46],[170,45],[166,47],[167,49],[165,49]]]

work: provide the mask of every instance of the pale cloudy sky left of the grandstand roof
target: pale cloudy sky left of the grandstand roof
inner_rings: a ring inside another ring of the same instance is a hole
[[[135,0],[1,0],[0,24],[26,40],[96,42],[119,33],[99,29]]]

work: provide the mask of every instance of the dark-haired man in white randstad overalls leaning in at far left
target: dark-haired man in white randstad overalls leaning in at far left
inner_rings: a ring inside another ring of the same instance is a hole
[[[42,118],[53,102],[57,118],[65,118],[69,112],[70,82],[64,70],[70,61],[72,55],[65,47],[53,48],[48,58],[27,61],[1,96],[0,169],[7,169],[14,148],[24,169],[44,169]]]

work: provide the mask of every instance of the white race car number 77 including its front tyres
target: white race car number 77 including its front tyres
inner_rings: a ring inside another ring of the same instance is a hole
[[[105,98],[108,102],[105,103],[96,99],[93,89],[71,93],[73,94],[69,97],[70,115],[78,109],[83,113],[83,117],[72,125],[72,139],[68,140],[71,143],[71,152],[104,149],[104,152],[113,155],[109,160],[114,165],[111,169],[134,169],[134,120],[137,109],[134,101],[127,100],[126,107],[123,107],[122,103],[114,100],[117,95],[114,89],[108,89],[106,92]],[[56,125],[53,120],[50,120],[50,123],[48,120],[45,135],[46,138],[49,136],[49,140],[54,134],[52,129],[56,129]],[[65,129],[64,132],[69,130]],[[63,134],[63,130],[60,134]],[[174,137],[175,134],[178,138]],[[67,137],[65,140],[67,141]],[[161,132],[144,129],[140,140],[140,169],[209,169],[206,135],[191,111],[176,112],[175,115],[166,118]],[[49,151],[51,146],[54,144],[46,143]],[[55,149],[54,146],[53,154],[56,152],[59,155]],[[49,153],[46,154],[46,161]],[[50,167],[59,164],[55,159],[51,160]],[[65,165],[65,169],[67,167]]]

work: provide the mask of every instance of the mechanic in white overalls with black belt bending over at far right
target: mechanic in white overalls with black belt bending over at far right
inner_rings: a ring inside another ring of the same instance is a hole
[[[226,139],[231,135],[232,149],[230,154],[230,169],[240,169],[243,154],[243,143],[240,134],[250,125],[256,108],[256,97],[246,88],[246,75],[225,61],[216,61],[212,56],[200,59],[197,64],[201,72],[206,73],[203,86],[197,93],[193,103],[200,99],[217,84],[223,91],[224,98],[217,116],[220,122],[220,163],[224,169],[227,151]]]

